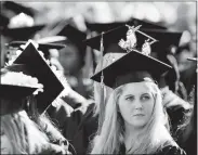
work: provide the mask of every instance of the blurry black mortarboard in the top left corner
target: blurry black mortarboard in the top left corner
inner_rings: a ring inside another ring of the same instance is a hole
[[[14,1],[5,1],[3,2],[2,7],[6,10],[13,11],[15,14],[19,14],[23,12],[27,15],[34,16],[36,12],[32,8],[25,7]]]

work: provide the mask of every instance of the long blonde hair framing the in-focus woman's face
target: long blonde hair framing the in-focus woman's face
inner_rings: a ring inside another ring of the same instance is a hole
[[[153,82],[150,82],[150,86],[155,98],[153,115],[145,129],[140,133],[140,142],[132,145],[129,154],[150,154],[170,143],[176,145],[164,126],[167,121],[160,90]],[[114,90],[106,103],[104,122],[101,132],[97,132],[93,140],[92,154],[118,154],[120,145],[123,144],[124,122],[118,111],[118,99],[123,88],[124,86],[121,86]]]

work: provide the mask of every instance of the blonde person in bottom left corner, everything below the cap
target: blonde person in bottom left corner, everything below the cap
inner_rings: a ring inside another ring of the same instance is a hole
[[[1,154],[65,153],[51,144],[25,111],[1,116]]]

